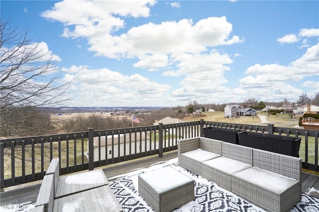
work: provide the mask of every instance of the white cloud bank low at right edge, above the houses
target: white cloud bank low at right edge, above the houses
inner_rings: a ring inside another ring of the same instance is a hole
[[[248,76],[239,79],[239,88],[236,88],[233,92],[242,92],[248,97],[255,97],[260,101],[281,101],[285,98],[296,99],[296,96],[304,91],[292,84],[306,77],[318,76],[318,58],[319,43],[308,48],[302,57],[288,66],[279,64],[253,65],[245,72]],[[307,81],[302,86],[312,87],[315,90],[319,88],[318,82],[313,81]],[[257,90],[262,92],[256,94]],[[269,96],[269,94],[272,95]]]

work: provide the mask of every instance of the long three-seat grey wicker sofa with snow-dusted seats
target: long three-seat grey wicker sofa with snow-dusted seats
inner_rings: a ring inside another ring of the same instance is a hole
[[[220,156],[196,159],[204,151]],[[302,198],[300,158],[204,137],[178,140],[178,164],[193,172],[198,163],[196,174],[266,211],[290,211]]]

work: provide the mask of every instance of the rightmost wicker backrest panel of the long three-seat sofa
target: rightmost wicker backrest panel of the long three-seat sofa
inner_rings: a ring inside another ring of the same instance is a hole
[[[254,166],[289,178],[301,180],[302,159],[254,149]]]

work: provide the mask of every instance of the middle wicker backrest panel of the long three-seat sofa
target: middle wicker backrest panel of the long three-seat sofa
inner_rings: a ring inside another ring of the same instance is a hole
[[[223,142],[221,156],[253,165],[253,148],[238,144]]]

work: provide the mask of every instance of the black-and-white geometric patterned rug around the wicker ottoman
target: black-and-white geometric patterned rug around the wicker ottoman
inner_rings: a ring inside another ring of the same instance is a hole
[[[194,201],[175,209],[174,212],[265,212],[201,176],[178,166],[177,163],[166,166],[188,175],[195,181]],[[116,181],[109,182],[109,185],[124,212],[154,212],[138,193],[137,174],[119,178]],[[302,201],[292,208],[291,212],[319,212],[319,199],[303,194]]]

